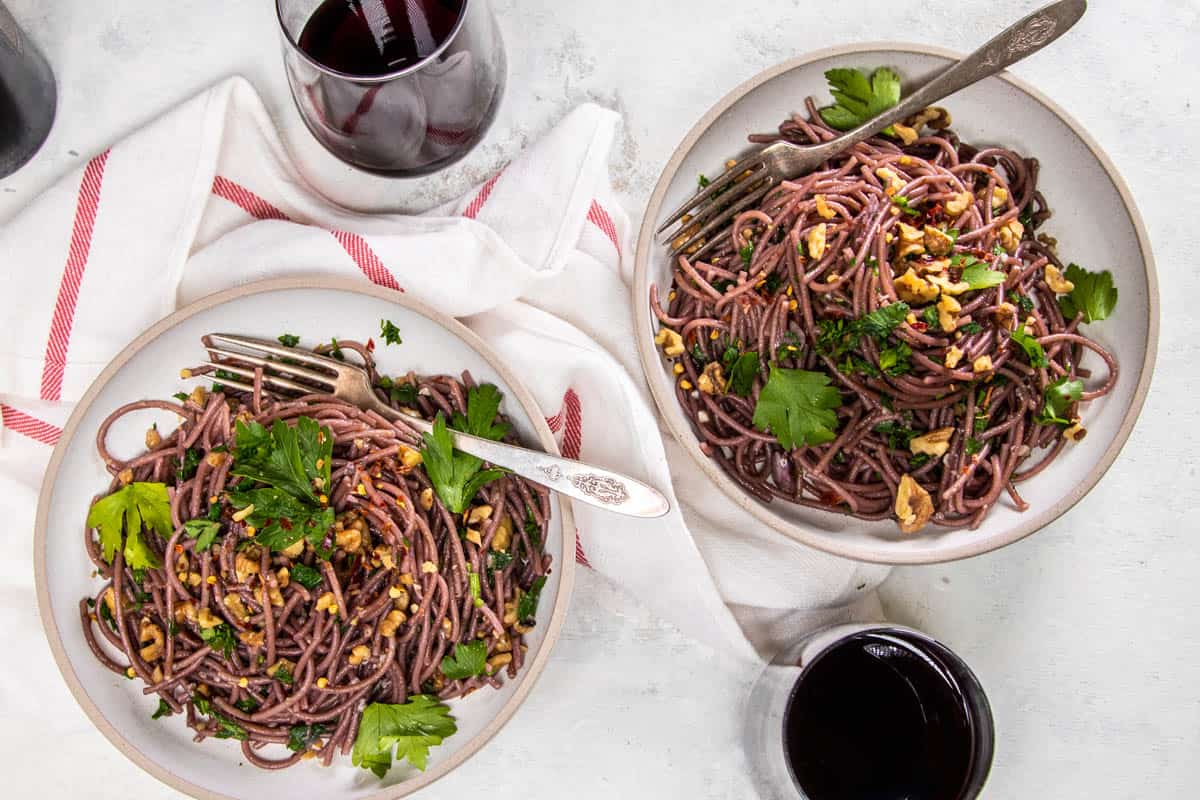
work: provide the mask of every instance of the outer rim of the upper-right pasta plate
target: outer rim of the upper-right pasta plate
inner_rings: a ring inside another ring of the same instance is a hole
[[[700,120],[691,126],[688,134],[674,149],[666,167],[662,168],[662,174],[659,176],[659,181],[655,185],[654,192],[650,194],[649,203],[646,206],[646,216],[642,218],[642,225],[637,236],[634,282],[631,284],[634,330],[637,338],[637,355],[642,365],[646,383],[650,387],[650,395],[653,395],[654,403],[662,414],[667,428],[671,431],[671,434],[676,438],[679,445],[688,452],[689,456],[691,456],[691,459],[700,465],[706,475],[708,475],[709,480],[725,492],[725,494],[738,506],[750,512],[760,522],[766,523],[768,527],[784,536],[833,555],[874,564],[942,564],[973,555],[980,555],[983,553],[1007,547],[1013,542],[1018,542],[1049,525],[1079,503],[1109,470],[1112,462],[1116,461],[1117,455],[1121,452],[1121,449],[1129,439],[1133,426],[1141,413],[1142,405],[1145,404],[1146,392],[1150,390],[1151,377],[1153,375],[1154,362],[1158,355],[1158,275],[1154,266],[1154,254],[1150,245],[1150,235],[1146,230],[1146,224],[1142,221],[1141,212],[1138,210],[1136,203],[1134,203],[1133,194],[1129,192],[1129,187],[1126,185],[1124,179],[1121,178],[1116,166],[1109,158],[1104,149],[1100,148],[1099,143],[1097,143],[1096,139],[1093,139],[1091,134],[1088,134],[1087,131],[1084,130],[1084,127],[1062,107],[1025,80],[1013,76],[1008,71],[1002,71],[995,76],[1009,86],[1024,92],[1033,102],[1040,103],[1046,110],[1062,120],[1062,122],[1067,125],[1079,140],[1087,146],[1092,156],[1104,168],[1105,174],[1111,181],[1114,188],[1117,191],[1117,194],[1121,197],[1121,203],[1124,206],[1126,213],[1128,213],[1129,221],[1136,233],[1138,248],[1146,267],[1146,296],[1150,305],[1150,319],[1146,332],[1146,357],[1141,365],[1141,371],[1138,377],[1138,386],[1130,398],[1129,408],[1121,420],[1121,426],[1108,449],[1105,449],[1102,457],[1096,462],[1087,475],[1085,475],[1084,479],[1056,504],[1037,515],[1031,516],[1028,519],[1022,519],[1019,524],[1004,531],[1003,535],[991,536],[988,539],[967,540],[961,545],[942,547],[938,549],[898,552],[883,541],[878,543],[859,545],[851,542],[850,540],[839,540],[835,535],[817,533],[802,524],[787,522],[779,515],[770,511],[767,504],[760,503],[738,487],[732,479],[721,471],[716,462],[701,452],[698,439],[696,434],[692,433],[691,427],[684,417],[683,411],[679,409],[679,404],[676,402],[673,393],[666,391],[666,389],[654,379],[655,375],[662,372],[662,365],[658,350],[653,345],[654,320],[649,309],[649,303],[646,301],[650,285],[649,264],[650,255],[656,248],[656,243],[654,241],[654,229],[656,227],[658,217],[662,210],[662,200],[666,197],[666,192],[670,188],[671,182],[674,180],[684,158],[688,157],[700,138],[708,132],[720,116],[722,116],[734,103],[767,82],[793,70],[809,66],[816,61],[870,52],[931,55],[935,58],[953,60],[961,59],[964,56],[962,53],[953,49],[910,42],[881,41],[840,44],[812,50],[768,67],[743,82],[716,101],[716,103],[714,103],[703,114],[703,116],[701,116]]]

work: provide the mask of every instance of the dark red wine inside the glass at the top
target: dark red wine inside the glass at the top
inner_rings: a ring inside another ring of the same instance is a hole
[[[463,0],[325,0],[300,49],[331,70],[378,77],[409,67],[454,32]]]

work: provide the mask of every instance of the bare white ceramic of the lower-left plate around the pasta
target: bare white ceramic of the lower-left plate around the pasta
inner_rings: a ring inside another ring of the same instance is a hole
[[[395,291],[349,281],[300,279],[256,283],[212,295],[143,333],[84,395],[50,459],[37,511],[35,560],[38,607],[54,657],[76,699],[109,741],[180,792],[221,800],[378,800],[407,795],[455,769],[499,730],[529,693],[562,627],[575,567],[570,558],[575,552],[574,540],[569,541],[575,527],[569,505],[556,499],[546,537],[553,571],[542,589],[540,624],[527,639],[524,668],[499,691],[482,690],[451,700],[458,733],[431,750],[425,772],[401,763],[384,782],[352,766],[349,758],[337,758],[330,769],[301,762],[290,769],[264,771],[242,764],[245,759],[236,741],[209,739],[193,744],[192,732],[182,720],[150,718],[157,703],[142,694],[140,681],[114,675],[89,651],[79,625],[78,603],[96,593],[96,583],[82,534],[91,497],[108,482],[95,449],[101,421],[124,403],[170,397],[185,389],[179,369],[203,359],[199,343],[203,333],[222,331],[275,338],[290,332],[311,345],[331,336],[377,335],[380,319],[395,321],[404,339],[400,347],[376,350],[383,372],[457,374],[469,369],[478,380],[493,383],[504,392],[502,411],[523,441],[557,452],[533,398],[469,330]],[[155,419],[156,413],[145,413],[119,421],[109,434],[114,452],[132,455],[143,450],[145,428]],[[158,414],[157,421],[160,429],[170,431],[178,417]]]

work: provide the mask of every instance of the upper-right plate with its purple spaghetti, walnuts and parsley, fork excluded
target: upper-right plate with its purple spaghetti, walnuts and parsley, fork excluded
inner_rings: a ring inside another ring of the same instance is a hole
[[[689,218],[667,246],[653,234],[748,148],[829,140],[952,58],[865,44],[752,78],[680,144],[638,241],[638,351],[672,433],[760,521],[860,560],[1002,547],[1116,458],[1158,335],[1123,181],[1003,73],[780,182],[712,239],[689,243]]]

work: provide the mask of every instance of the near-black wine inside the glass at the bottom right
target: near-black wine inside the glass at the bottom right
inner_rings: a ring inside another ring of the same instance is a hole
[[[821,654],[784,716],[788,764],[810,800],[958,800],[974,735],[953,672],[896,632]]]

